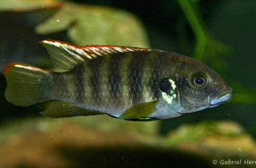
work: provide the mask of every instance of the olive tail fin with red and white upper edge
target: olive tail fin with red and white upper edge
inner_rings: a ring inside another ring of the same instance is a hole
[[[29,106],[47,101],[42,93],[50,71],[24,63],[10,63],[3,70],[7,81],[5,97],[12,104]]]

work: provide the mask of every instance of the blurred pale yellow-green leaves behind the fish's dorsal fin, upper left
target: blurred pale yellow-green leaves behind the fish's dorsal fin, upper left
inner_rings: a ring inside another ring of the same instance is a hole
[[[75,45],[149,47],[140,20],[120,9],[57,0],[2,0],[0,12],[3,11],[32,11],[27,18],[36,23],[36,34],[67,31],[68,38]]]

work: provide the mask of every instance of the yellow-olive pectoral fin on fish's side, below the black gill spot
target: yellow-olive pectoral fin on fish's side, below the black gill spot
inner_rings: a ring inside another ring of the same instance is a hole
[[[126,109],[124,113],[119,116],[119,118],[127,120],[148,117],[157,110],[156,105],[158,104],[158,102],[159,101],[152,101],[135,105],[129,109]]]

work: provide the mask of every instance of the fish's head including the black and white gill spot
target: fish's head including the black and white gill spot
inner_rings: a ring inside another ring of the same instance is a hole
[[[180,114],[194,113],[208,107],[225,103],[231,97],[232,89],[227,82],[214,70],[205,64],[191,58],[186,58],[177,68],[175,76],[166,77],[170,81],[169,96],[160,90],[162,100],[168,108]],[[166,90],[166,89],[165,89]],[[171,101],[170,101],[171,100]]]

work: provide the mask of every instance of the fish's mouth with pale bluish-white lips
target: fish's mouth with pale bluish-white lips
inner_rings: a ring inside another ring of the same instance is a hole
[[[227,102],[231,97],[232,89],[230,87],[220,90],[211,96],[210,107],[215,107],[219,104]]]

